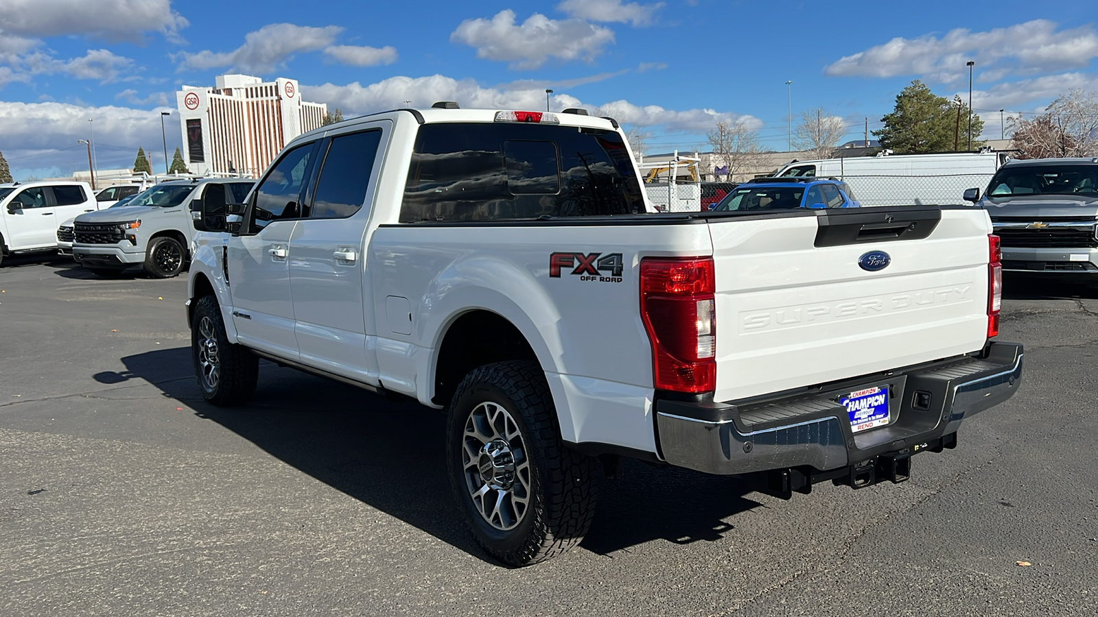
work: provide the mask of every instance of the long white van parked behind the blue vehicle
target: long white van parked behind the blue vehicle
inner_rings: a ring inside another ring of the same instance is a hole
[[[864,205],[965,205],[965,189],[984,187],[1006,159],[1002,153],[878,155],[796,160],[778,176],[834,177]]]

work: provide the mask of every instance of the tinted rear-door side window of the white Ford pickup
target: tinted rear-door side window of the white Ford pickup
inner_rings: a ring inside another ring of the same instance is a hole
[[[313,218],[346,218],[362,207],[380,144],[381,131],[332,138],[316,180]]]

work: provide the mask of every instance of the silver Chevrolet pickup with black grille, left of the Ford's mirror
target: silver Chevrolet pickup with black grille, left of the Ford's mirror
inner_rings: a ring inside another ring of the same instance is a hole
[[[126,205],[77,216],[72,255],[103,277],[138,265],[152,277],[175,277],[190,263],[191,210],[200,210],[203,201],[221,207],[243,203],[253,184],[240,178],[156,184]]]

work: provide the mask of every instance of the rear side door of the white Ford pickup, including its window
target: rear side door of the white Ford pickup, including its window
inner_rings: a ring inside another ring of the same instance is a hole
[[[304,216],[290,237],[301,361],[371,383],[377,383],[378,370],[366,348],[365,307],[370,304],[362,296],[363,247],[383,158],[379,153],[391,126],[390,121],[359,124],[324,139]]]

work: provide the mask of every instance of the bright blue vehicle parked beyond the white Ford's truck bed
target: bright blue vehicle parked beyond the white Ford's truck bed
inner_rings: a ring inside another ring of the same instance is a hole
[[[827,178],[755,178],[736,187],[715,212],[793,207],[859,207],[850,187]]]

